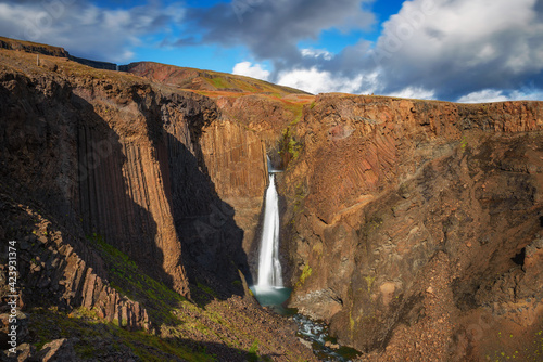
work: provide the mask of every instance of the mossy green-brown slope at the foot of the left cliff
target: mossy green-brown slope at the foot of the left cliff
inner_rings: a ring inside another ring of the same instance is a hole
[[[105,328],[113,340],[126,339],[124,345],[137,355],[143,353],[146,348],[156,348],[188,361],[222,361],[216,358],[220,355],[220,351],[235,353],[249,361],[266,361],[264,351],[277,349],[274,341],[268,340],[270,338],[262,336],[260,327],[254,325],[253,315],[241,311],[245,308],[239,305],[240,300],[220,301],[213,288],[199,282],[192,288],[197,303],[189,301],[148,276],[127,255],[104,242],[100,235],[92,234],[87,238],[102,255],[112,286],[147,309],[157,336],[127,332],[115,323],[104,324],[93,311],[81,308],[71,318],[84,319],[85,329],[89,324],[92,328],[102,324],[104,326],[100,328]],[[50,336],[42,340],[49,338]],[[257,347],[255,340],[260,340]],[[139,351],[140,347],[142,351]],[[91,349],[81,350],[81,353],[88,355],[93,352],[96,351]],[[141,355],[144,361],[153,361]],[[191,355],[191,359],[186,355]],[[294,355],[292,358],[298,359]]]

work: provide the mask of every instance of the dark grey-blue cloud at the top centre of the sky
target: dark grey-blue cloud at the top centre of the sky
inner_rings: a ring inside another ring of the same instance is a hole
[[[193,9],[187,18],[202,29],[202,41],[244,44],[256,59],[300,61],[300,40],[317,39],[325,29],[366,29],[375,22],[364,5],[372,0],[232,0]]]

